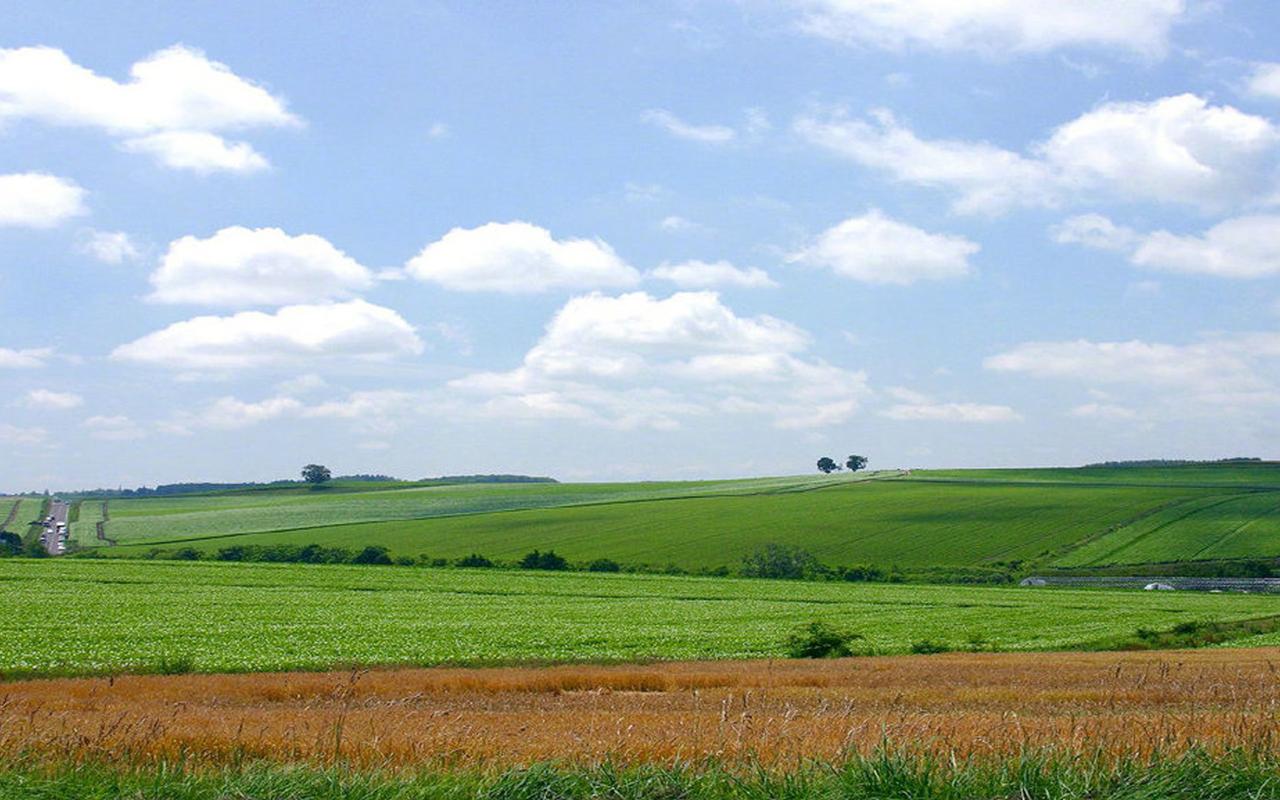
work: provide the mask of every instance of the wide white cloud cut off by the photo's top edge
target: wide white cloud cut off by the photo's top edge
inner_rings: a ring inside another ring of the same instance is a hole
[[[851,45],[987,55],[1105,47],[1160,56],[1185,0],[797,0],[800,28]]]

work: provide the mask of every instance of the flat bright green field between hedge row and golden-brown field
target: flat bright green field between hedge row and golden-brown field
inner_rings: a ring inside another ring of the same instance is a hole
[[[38,607],[32,605],[38,598]],[[1280,612],[1263,595],[852,585],[417,567],[0,561],[0,673],[760,658],[823,620],[879,652],[1068,649]],[[1240,644],[1277,644],[1275,635]]]

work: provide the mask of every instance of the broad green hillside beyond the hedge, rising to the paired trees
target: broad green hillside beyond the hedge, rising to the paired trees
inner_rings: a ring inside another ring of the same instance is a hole
[[[252,492],[111,502],[105,554],[385,547],[393,556],[735,570],[764,544],[828,566],[1023,570],[1280,557],[1270,463],[969,470],[649,484]],[[96,543],[93,543],[96,544]]]

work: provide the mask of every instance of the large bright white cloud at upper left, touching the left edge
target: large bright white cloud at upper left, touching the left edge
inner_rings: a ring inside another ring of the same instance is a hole
[[[266,159],[220,133],[296,125],[266,88],[198,50],[173,46],[137,61],[118,82],[56,47],[0,49],[0,120],[97,128],[160,164],[197,172],[253,172]]]

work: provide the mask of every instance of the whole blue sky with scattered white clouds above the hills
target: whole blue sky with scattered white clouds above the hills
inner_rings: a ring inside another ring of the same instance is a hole
[[[0,488],[1280,457],[1268,0],[0,3]]]

